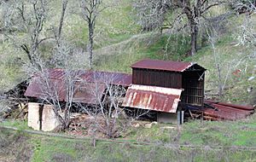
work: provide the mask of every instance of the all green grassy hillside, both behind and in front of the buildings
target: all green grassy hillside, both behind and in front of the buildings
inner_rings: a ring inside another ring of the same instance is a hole
[[[57,23],[59,18],[59,14],[55,13],[60,13],[61,1],[53,2],[53,13],[47,26]],[[75,2],[73,0],[70,3],[63,34],[68,43],[85,49],[88,28],[79,15],[71,14]],[[215,10],[216,13],[218,9]],[[256,48],[237,45],[235,39],[244,15],[230,18],[232,23],[225,26],[224,32],[218,36],[215,50],[211,43],[207,43],[195,56],[187,56],[188,34],[170,36],[168,32],[141,32],[135,16],[132,0],[122,0],[100,15],[96,21],[96,70],[131,73],[131,64],[144,58],[193,61],[207,68],[207,97],[239,104],[256,104],[256,78],[249,79],[256,77]],[[41,49],[49,55],[51,48],[49,42]],[[25,62],[27,59],[23,51],[15,49],[12,43],[3,38],[0,43],[0,93],[26,78],[26,72],[22,68]],[[218,78],[218,66],[221,78]],[[219,83],[224,84],[222,97],[217,95]],[[249,87],[253,87],[252,92],[247,91]],[[90,140],[28,135],[22,132],[29,129],[26,123],[8,122],[3,125],[18,127],[20,131],[0,130],[0,140],[7,139],[0,147],[8,148],[0,148],[0,161],[3,155],[10,161],[17,157],[32,161],[253,161],[256,157],[255,149],[241,150],[237,147],[256,146],[255,123],[254,114],[248,119],[232,122],[191,121],[179,131],[165,129],[165,124],[158,124],[152,129],[131,129],[126,136],[118,139],[154,142],[154,146],[140,146],[129,142],[97,142],[96,148],[93,148]],[[175,148],[173,144],[203,147]],[[222,148],[212,149],[214,146]]]

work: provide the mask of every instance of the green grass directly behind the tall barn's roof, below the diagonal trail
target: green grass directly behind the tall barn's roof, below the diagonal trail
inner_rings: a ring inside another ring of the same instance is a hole
[[[181,61],[189,50],[188,39],[182,37],[170,38],[168,48],[163,47],[168,37],[166,35],[148,34],[133,38],[122,44],[124,48],[109,49],[110,55],[100,55],[96,58],[96,69],[114,72],[131,73],[131,65],[142,59],[158,59]],[[183,45],[179,45],[183,43]]]

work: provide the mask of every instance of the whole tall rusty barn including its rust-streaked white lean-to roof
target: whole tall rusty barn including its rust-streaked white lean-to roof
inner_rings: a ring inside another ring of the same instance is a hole
[[[204,67],[191,62],[142,60],[131,68],[132,85],[124,107],[153,110],[160,122],[173,123],[177,109],[182,109],[180,103],[204,105]]]

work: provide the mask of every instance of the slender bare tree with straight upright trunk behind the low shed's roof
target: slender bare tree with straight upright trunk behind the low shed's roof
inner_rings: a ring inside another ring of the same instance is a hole
[[[89,61],[90,69],[92,68],[93,62],[93,44],[94,44],[94,34],[96,26],[96,18],[98,15],[107,7],[103,6],[103,0],[81,0],[81,17],[86,21],[88,26],[88,51],[89,51]]]

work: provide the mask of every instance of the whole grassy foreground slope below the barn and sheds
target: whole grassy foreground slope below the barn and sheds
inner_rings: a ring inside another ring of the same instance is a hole
[[[32,161],[253,161],[255,119],[237,122],[192,122],[177,129],[165,124],[151,129],[133,128],[116,142],[90,138],[68,139],[58,136],[27,134],[26,122],[4,123],[21,130],[0,129],[6,147],[0,155]],[[142,144],[139,144],[142,142]],[[138,143],[138,144],[137,144]],[[143,144],[144,143],[144,144]],[[179,148],[177,146],[183,146]],[[9,150],[13,150],[9,152]],[[0,156],[2,157],[2,156]]]

